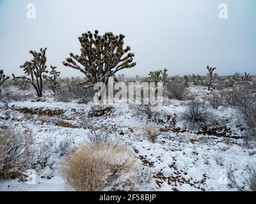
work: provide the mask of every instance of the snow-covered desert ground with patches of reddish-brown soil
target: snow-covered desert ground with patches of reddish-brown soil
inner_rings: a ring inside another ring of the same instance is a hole
[[[191,87],[190,92],[199,99],[207,95],[204,87]],[[241,173],[246,164],[256,163],[256,149],[244,146],[244,124],[236,111],[226,107],[212,109],[217,130],[191,131],[180,117],[188,101],[166,101],[157,120],[138,115],[128,105],[106,107],[104,113],[95,115],[91,112],[92,103],[61,103],[52,98],[45,102],[0,103],[0,125],[12,125],[18,131],[32,129],[35,143],[48,136],[56,143],[69,137],[77,147],[90,132],[84,125],[108,128],[151,173],[152,181],[141,184],[141,191],[236,191],[227,180],[228,168],[234,170],[237,182],[243,186]],[[143,134],[145,126],[159,128],[156,142]],[[0,191],[72,191],[61,176],[65,157],[56,155],[53,159],[53,168],[36,172],[35,185],[19,179],[2,180]]]

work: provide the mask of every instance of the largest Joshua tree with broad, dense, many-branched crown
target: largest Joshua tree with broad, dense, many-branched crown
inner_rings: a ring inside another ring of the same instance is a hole
[[[97,82],[107,84],[109,77],[115,78],[116,72],[136,65],[132,62],[134,54],[129,52],[131,47],[124,48],[124,38],[123,34],[100,36],[98,31],[83,33],[78,38],[81,54],[70,53],[63,64],[86,75],[87,81],[82,84],[84,88],[93,87]]]

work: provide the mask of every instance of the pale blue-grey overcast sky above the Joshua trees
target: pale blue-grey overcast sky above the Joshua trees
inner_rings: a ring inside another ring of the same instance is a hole
[[[27,18],[28,3],[36,19]],[[228,5],[228,19],[219,18],[220,3]],[[47,64],[61,77],[83,76],[62,62],[79,54],[77,37],[95,29],[125,34],[137,62],[127,76],[162,68],[204,75],[208,64],[220,75],[256,74],[255,0],[0,0],[0,68],[22,75],[29,50],[47,47]]]

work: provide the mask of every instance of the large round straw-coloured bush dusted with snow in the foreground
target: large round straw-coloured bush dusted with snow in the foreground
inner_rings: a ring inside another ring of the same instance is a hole
[[[131,191],[138,164],[124,147],[83,145],[67,159],[63,175],[77,191]]]

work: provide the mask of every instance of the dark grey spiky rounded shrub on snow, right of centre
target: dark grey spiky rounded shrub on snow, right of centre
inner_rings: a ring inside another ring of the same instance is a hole
[[[199,126],[210,122],[212,119],[212,112],[209,110],[205,102],[193,100],[190,101],[186,111],[182,114],[182,117],[191,124],[197,124]]]

